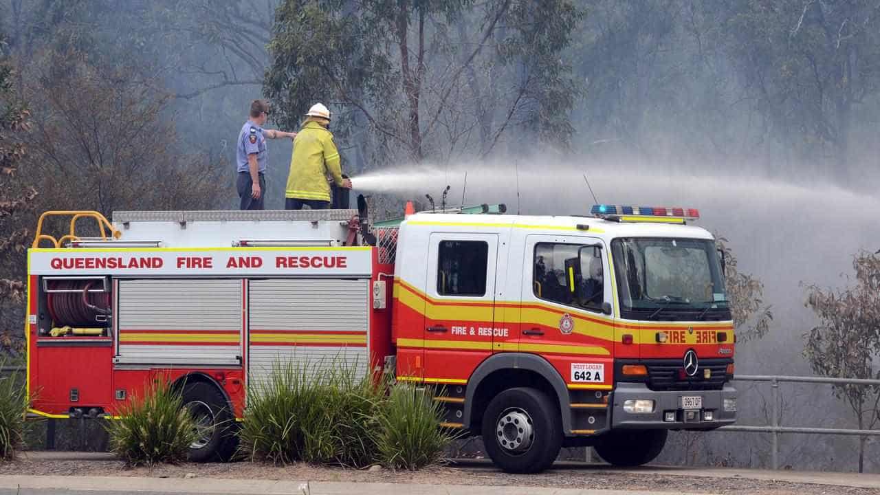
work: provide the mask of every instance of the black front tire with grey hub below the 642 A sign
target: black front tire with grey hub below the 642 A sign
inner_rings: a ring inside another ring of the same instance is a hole
[[[520,427],[529,419],[532,435]],[[483,414],[481,432],[492,462],[508,473],[543,471],[562,447],[559,408],[536,388],[509,388],[495,395]]]

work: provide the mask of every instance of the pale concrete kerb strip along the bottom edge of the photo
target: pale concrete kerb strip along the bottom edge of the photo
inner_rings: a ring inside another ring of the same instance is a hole
[[[451,484],[311,483],[269,480],[171,479],[149,477],[0,476],[0,494],[60,495],[671,495],[670,491],[606,491]],[[678,494],[678,492],[675,492]]]

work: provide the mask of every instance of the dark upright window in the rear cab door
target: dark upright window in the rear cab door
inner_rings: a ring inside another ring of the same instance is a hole
[[[488,243],[442,240],[437,258],[437,293],[442,296],[485,296]]]

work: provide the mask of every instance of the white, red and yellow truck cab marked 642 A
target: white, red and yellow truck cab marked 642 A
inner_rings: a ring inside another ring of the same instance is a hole
[[[668,430],[736,419],[723,259],[697,211],[597,205],[594,217],[417,213],[397,233],[398,380],[509,472],[562,446],[649,462]]]

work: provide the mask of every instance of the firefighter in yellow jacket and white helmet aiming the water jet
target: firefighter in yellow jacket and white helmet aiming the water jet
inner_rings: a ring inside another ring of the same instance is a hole
[[[340,188],[351,188],[351,181],[342,177],[339,151],[333,142],[330,111],[316,103],[305,114],[305,122],[293,140],[293,156],[290,158],[290,175],[284,208],[302,210],[304,205],[312,210],[330,207],[330,185],[327,177]]]

